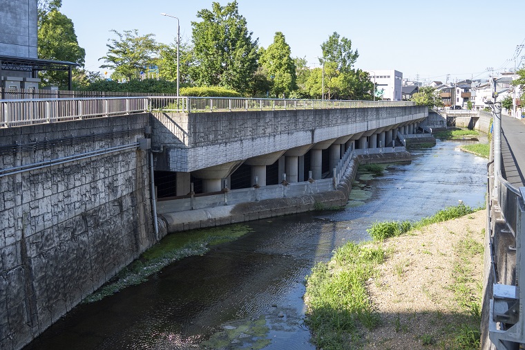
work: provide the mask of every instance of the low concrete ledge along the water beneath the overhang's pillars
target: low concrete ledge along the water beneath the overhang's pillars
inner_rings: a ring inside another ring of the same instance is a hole
[[[410,161],[406,151],[391,154],[365,154],[355,156],[335,191],[294,196],[289,198],[265,199],[257,202],[239,203],[236,205],[221,205],[214,208],[187,210],[159,215],[164,221],[168,233],[208,228],[229,223],[240,223],[287,214],[297,214],[310,210],[343,206],[348,201],[352,190],[352,182],[357,168],[361,164],[393,163]]]

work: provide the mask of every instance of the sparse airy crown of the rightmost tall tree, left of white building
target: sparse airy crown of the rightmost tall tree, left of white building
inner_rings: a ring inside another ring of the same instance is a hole
[[[352,41],[345,37],[341,37],[337,32],[334,32],[327,39],[326,42],[321,44],[323,50],[323,58],[319,59],[319,63],[323,64],[323,61],[334,62],[336,64],[336,70],[341,73],[346,73],[352,70],[359,53],[357,50],[352,50]]]

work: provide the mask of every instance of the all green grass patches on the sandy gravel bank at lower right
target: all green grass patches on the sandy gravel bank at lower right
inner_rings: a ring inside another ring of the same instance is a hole
[[[318,263],[312,268],[312,273],[306,279],[305,303],[307,305],[306,323],[312,331],[312,342],[317,349],[338,350],[349,349],[349,344],[359,347],[359,341],[366,329],[374,329],[381,323],[381,317],[374,309],[367,294],[366,283],[370,278],[377,277],[376,266],[382,264],[387,252],[379,241],[405,234],[414,228],[447,221],[473,213],[475,210],[460,204],[440,210],[432,217],[426,217],[417,223],[410,221],[376,222],[367,230],[373,237],[372,243],[346,243],[334,250],[334,255],[328,263]],[[455,266],[454,288],[457,300],[464,300],[461,308],[467,313],[467,318],[459,328],[449,332],[446,340],[452,347],[447,349],[476,349],[479,346],[479,315],[480,304],[473,297],[473,279],[468,261],[483,251],[483,247],[473,239],[464,239],[458,247],[457,255],[461,257]],[[396,273],[401,277],[405,264],[395,266]],[[470,279],[469,279],[470,278]],[[481,293],[477,293],[481,295]],[[477,328],[476,328],[477,322]],[[394,320],[396,332],[405,331],[407,327],[401,323],[399,315]],[[422,335],[423,345],[436,343],[432,335]],[[444,342],[444,340],[442,341]],[[443,343],[444,344],[444,343]]]

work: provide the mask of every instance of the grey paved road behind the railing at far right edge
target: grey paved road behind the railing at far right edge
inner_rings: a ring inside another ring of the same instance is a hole
[[[525,186],[525,122],[502,115],[502,174],[515,187]]]

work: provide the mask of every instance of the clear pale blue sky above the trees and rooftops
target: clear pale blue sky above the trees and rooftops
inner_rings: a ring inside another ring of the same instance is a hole
[[[228,1],[217,1],[226,6]],[[164,44],[190,42],[197,12],[211,0],[62,0],[73,20],[88,71],[101,71],[108,39],[137,29]],[[292,57],[319,66],[321,44],[332,33],[352,41],[359,52],[355,68],[395,69],[421,82],[484,79],[525,64],[525,1],[486,0],[238,0],[239,14],[258,45],[267,48],[276,32],[285,35]],[[109,77],[109,75],[108,75]]]

